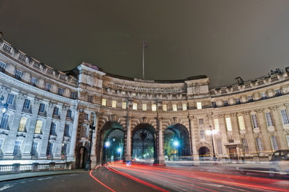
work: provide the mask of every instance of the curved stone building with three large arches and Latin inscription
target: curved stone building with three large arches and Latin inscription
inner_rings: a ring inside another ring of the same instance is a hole
[[[168,142],[171,159],[196,163],[267,161],[289,149],[289,67],[209,88],[205,75],[135,79],[89,63],[61,72],[1,37],[0,71],[1,163],[80,168],[91,151],[92,167],[140,157],[163,164]]]

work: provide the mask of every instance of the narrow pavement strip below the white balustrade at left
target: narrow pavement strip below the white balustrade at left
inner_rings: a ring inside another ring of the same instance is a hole
[[[24,179],[31,177],[42,177],[47,175],[62,175],[62,174],[75,174],[75,173],[88,173],[84,169],[75,169],[75,170],[52,170],[52,171],[40,171],[40,172],[30,172],[30,173],[14,173],[0,175],[0,182],[7,182],[15,179]]]

